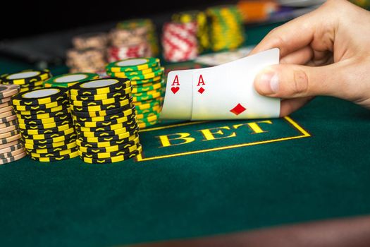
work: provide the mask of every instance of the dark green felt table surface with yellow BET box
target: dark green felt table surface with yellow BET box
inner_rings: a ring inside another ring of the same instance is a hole
[[[273,27],[250,28],[248,42]],[[0,166],[0,245],[118,246],[369,215],[369,127],[369,110],[316,97],[282,119],[164,121],[140,131],[137,160],[25,157]]]

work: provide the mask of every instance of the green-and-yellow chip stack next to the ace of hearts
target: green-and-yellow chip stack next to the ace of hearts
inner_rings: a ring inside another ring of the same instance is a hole
[[[137,124],[140,128],[159,122],[166,86],[164,68],[159,59],[140,58],[116,61],[106,66],[106,73],[117,78],[129,78],[132,84],[132,100],[136,107]]]

